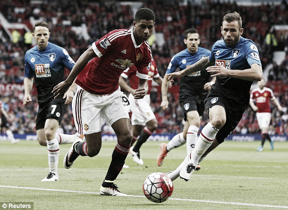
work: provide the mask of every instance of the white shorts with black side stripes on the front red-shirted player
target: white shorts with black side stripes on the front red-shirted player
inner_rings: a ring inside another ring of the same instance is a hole
[[[111,94],[96,95],[79,85],[72,100],[72,113],[79,134],[101,131],[103,119],[110,125],[119,119],[129,119],[129,100],[120,87]]]

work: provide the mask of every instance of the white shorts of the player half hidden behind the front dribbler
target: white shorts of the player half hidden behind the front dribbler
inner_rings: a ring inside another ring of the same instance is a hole
[[[145,95],[141,99],[134,99],[132,94],[129,94],[130,110],[132,112],[131,125],[145,126],[147,122],[156,118],[150,107],[150,95]]]

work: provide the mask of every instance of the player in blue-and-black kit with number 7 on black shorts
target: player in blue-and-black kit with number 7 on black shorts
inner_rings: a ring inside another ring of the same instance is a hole
[[[37,139],[41,146],[47,146],[49,174],[41,181],[57,181],[59,144],[74,142],[80,135],[67,135],[56,133],[67,105],[72,101],[74,83],[67,92],[61,94],[59,98],[54,98],[53,87],[64,80],[64,70],[71,70],[74,66],[73,59],[68,52],[51,42],[49,25],[40,21],[33,27],[33,37],[36,46],[28,50],[25,54],[25,95],[23,104],[32,102],[31,91],[33,88],[33,78],[38,93],[39,110],[36,118]]]

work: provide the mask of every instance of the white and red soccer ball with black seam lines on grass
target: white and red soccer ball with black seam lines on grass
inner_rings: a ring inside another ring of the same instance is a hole
[[[165,174],[155,172],[147,176],[143,183],[143,192],[152,202],[164,202],[172,195],[173,182]]]

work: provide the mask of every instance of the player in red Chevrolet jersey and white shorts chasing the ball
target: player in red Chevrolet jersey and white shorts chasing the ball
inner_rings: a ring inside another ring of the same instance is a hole
[[[120,91],[121,73],[135,65],[139,85],[134,98],[143,98],[148,90],[148,71],[152,61],[147,42],[155,25],[155,14],[141,8],[135,14],[133,28],[114,30],[94,42],[77,60],[67,79],[53,89],[55,97],[65,92],[75,80],[79,86],[72,101],[76,129],[86,142],[75,141],[64,158],[70,168],[81,156],[96,156],[102,144],[101,126],[105,118],[118,138],[106,177],[100,187],[101,195],[126,195],[118,190],[114,180],[120,173],[132,140],[129,100]],[[90,61],[91,60],[91,61]],[[89,62],[90,61],[90,62]]]

